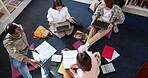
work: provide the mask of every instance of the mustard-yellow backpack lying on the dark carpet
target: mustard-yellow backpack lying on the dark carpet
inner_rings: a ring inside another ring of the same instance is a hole
[[[47,37],[49,37],[49,36],[51,36],[52,35],[52,33],[49,31],[49,30],[47,30],[46,28],[44,28],[43,26],[39,26],[36,30],[35,30],[35,32],[33,32],[33,38],[38,38],[38,39],[40,39],[40,38],[47,38]]]

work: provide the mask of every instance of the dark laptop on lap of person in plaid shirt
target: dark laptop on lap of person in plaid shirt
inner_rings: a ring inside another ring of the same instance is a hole
[[[103,29],[103,30],[106,30],[109,26],[109,23],[107,22],[103,22],[103,21],[100,21],[100,20],[95,20],[92,24],[93,27],[96,27],[96,28],[99,28],[99,29]]]

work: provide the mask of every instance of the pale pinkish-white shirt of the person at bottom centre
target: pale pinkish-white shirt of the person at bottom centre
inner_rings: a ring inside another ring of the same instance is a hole
[[[98,62],[92,53],[90,52],[87,52],[87,53],[91,57],[92,68],[90,71],[85,71],[85,72],[83,72],[81,69],[78,69],[77,77],[78,78],[97,78],[100,73]]]

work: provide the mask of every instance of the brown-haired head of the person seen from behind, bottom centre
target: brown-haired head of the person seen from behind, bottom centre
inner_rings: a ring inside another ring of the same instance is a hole
[[[91,57],[84,51],[76,56],[78,68],[83,71],[90,71],[92,67]]]

